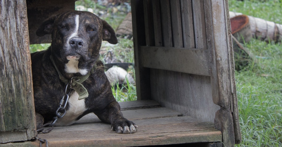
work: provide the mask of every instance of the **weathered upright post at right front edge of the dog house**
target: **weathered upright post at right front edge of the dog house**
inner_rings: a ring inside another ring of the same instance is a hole
[[[221,106],[215,116],[215,127],[222,131],[223,144],[234,146],[235,143],[241,141],[241,133],[238,121],[228,1],[209,1],[205,3],[204,11],[211,61],[212,97],[213,102]]]

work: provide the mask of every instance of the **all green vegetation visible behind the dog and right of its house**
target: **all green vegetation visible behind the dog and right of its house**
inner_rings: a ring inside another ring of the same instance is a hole
[[[105,19],[114,29],[122,22],[129,10],[128,4],[121,4],[126,9],[115,12],[116,4],[103,6],[91,0],[77,1],[76,5],[92,8],[95,14],[98,13],[97,15]],[[282,24],[282,0],[229,0],[229,9]],[[101,50],[105,52],[100,52],[101,59],[104,59],[107,51],[112,51],[117,60],[133,63],[132,40],[124,38],[118,40],[119,43],[115,46],[103,42]],[[30,50],[35,52],[48,46],[49,44],[31,45]],[[238,146],[281,147],[282,44],[252,39],[244,46],[258,56],[258,61],[241,67],[240,71],[235,71],[242,133],[242,143]],[[134,70],[129,72],[134,75]],[[112,90],[118,101],[136,100],[136,88],[130,83],[122,87],[113,86]]]

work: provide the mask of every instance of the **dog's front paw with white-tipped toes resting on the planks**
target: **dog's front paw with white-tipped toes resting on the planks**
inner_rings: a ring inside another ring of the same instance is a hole
[[[137,131],[137,125],[132,121],[129,121],[125,118],[115,122],[112,124],[112,130],[116,131],[116,133],[135,133]]]

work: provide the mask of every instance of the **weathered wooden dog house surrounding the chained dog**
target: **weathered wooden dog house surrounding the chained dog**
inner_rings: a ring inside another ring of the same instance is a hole
[[[38,146],[28,141],[36,136],[29,43],[50,42],[36,26],[74,0],[0,5],[0,145]],[[138,131],[117,134],[89,114],[38,137],[50,146],[240,143],[228,1],[132,0],[131,8],[138,100],[120,105]]]

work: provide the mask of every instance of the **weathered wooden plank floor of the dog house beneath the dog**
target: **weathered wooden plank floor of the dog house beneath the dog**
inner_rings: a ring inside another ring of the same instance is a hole
[[[138,125],[136,133],[115,133],[110,124],[88,114],[71,126],[54,127],[52,132],[38,134],[38,137],[47,139],[49,146],[145,146],[221,141],[221,132],[213,123],[181,116],[172,109],[159,107],[155,101],[123,102],[120,105],[124,117]],[[38,146],[39,142],[21,144]]]

